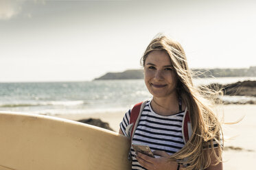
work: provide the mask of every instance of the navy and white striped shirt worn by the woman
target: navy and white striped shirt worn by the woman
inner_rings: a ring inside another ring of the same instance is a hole
[[[172,114],[170,116],[161,116],[156,114],[148,101],[132,143],[148,145],[152,151],[165,151],[167,154],[174,154],[185,145],[182,134],[182,123],[185,111]],[[130,110],[124,115],[124,119],[120,123],[121,130],[126,134],[126,127],[130,121]],[[132,169],[145,169],[135,158],[135,150],[131,147],[130,154],[132,156]]]

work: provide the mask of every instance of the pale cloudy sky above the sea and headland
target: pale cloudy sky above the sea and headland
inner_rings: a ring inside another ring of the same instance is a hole
[[[256,66],[255,9],[253,0],[0,0],[0,82],[141,69],[159,33],[181,43],[191,69]]]

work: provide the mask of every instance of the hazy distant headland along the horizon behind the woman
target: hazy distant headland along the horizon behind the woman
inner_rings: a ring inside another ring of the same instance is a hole
[[[196,77],[255,77],[256,66],[248,69],[192,69]],[[95,80],[132,80],[143,79],[143,70],[126,70],[119,73],[106,73]]]

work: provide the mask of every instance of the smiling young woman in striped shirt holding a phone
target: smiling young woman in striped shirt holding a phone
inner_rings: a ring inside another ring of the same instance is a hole
[[[143,108],[132,143],[148,145],[154,158],[135,153],[131,147],[132,169],[221,170],[222,130],[210,107],[210,95],[216,93],[193,85],[181,45],[166,36],[154,38],[141,64],[152,99]],[[130,111],[120,123],[120,134],[127,135]],[[182,127],[186,112],[193,133],[185,144]]]

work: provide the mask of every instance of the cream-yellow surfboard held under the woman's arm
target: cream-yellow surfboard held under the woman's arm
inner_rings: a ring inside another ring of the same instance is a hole
[[[130,170],[130,140],[93,125],[0,112],[0,170]]]

